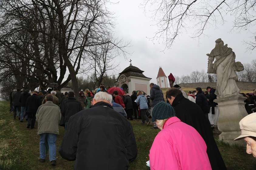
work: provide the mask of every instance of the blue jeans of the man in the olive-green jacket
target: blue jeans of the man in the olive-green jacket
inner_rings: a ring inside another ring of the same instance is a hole
[[[40,134],[40,159],[46,158],[46,142],[48,142],[49,145],[49,161],[56,160],[56,134],[52,133],[42,133]]]

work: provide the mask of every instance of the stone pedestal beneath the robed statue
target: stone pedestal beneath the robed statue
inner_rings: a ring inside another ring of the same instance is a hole
[[[248,115],[244,107],[244,100],[246,100],[246,97],[241,94],[214,100],[218,103],[220,110],[218,129],[222,133],[219,135],[219,140],[230,144],[244,145],[243,140],[234,141],[235,138],[241,135],[240,120]]]

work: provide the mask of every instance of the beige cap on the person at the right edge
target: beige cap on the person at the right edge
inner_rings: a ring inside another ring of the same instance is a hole
[[[247,136],[256,137],[256,113],[245,116],[240,122],[241,135],[234,140],[241,140]]]

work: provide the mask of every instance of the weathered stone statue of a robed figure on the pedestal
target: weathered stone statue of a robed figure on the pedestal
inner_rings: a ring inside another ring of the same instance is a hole
[[[215,94],[218,98],[236,95],[240,91],[235,81],[238,79],[236,71],[244,70],[244,66],[241,62],[235,62],[235,53],[232,51],[232,48],[227,47],[227,44],[224,45],[221,38],[215,42],[215,48],[213,48],[210,54],[206,54],[208,56],[207,73],[217,74]]]

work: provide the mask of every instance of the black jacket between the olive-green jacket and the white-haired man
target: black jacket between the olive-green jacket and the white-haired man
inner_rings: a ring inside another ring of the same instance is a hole
[[[68,122],[70,116],[73,116],[82,110],[81,103],[74,97],[69,97],[67,100],[64,100],[61,107],[61,114],[65,118],[65,123]]]

